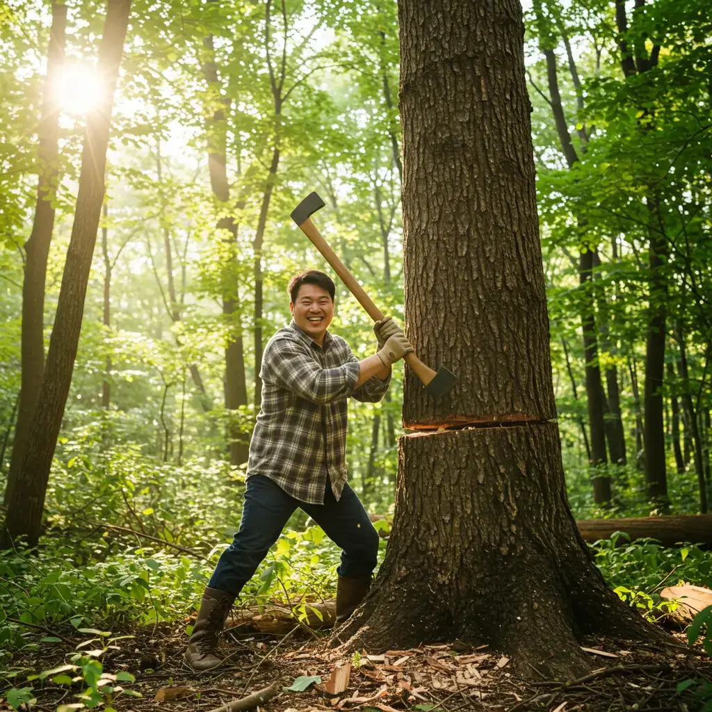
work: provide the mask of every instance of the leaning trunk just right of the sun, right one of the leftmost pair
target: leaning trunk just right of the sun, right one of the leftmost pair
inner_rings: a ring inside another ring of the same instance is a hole
[[[40,397],[21,464],[9,487],[8,512],[0,548],[10,548],[21,535],[36,545],[57,436],[74,369],[84,313],[89,271],[104,199],[106,150],[114,90],[119,73],[130,0],[109,0],[98,70],[105,80],[105,96],[87,116],[77,203],[70,236],[57,313],[42,378]]]

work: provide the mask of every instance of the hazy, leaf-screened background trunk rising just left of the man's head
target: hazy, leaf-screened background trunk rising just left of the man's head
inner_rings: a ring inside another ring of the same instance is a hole
[[[210,185],[222,208],[231,212],[230,184],[227,177],[227,120],[230,100],[221,93],[221,82],[215,62],[215,50],[212,35],[204,40],[206,61],[203,63],[205,79],[213,92],[217,108],[206,120],[208,142],[208,172]],[[242,205],[238,205],[241,207]],[[238,226],[231,215],[221,217],[216,225],[218,230],[229,234],[231,248],[237,244]],[[239,309],[239,286],[233,280],[226,280],[222,298],[222,312],[229,323],[228,338],[225,346],[225,408],[234,410],[247,405],[247,386],[245,379],[245,360],[242,341],[241,313]],[[241,465],[247,461],[248,441],[244,433],[234,426],[229,427],[230,461]]]

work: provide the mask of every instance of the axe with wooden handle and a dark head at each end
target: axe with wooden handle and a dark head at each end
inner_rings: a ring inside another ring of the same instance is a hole
[[[290,217],[295,221],[298,228],[312,241],[315,248],[322,253],[324,259],[333,267],[335,273],[341,281],[349,288],[352,295],[359,300],[361,306],[367,311],[372,320],[379,321],[383,318],[379,308],[372,302],[371,298],[362,286],[355,280],[350,271],[345,268],[342,261],[321,236],[316,226],[311,221],[311,216],[325,206],[325,202],[316,193],[310,193],[298,206],[293,209]],[[405,362],[412,368],[413,372],[422,381],[425,389],[436,399],[444,396],[455,384],[457,377],[453,372],[441,366],[435,372],[426,366],[414,353],[409,353],[404,357]]]

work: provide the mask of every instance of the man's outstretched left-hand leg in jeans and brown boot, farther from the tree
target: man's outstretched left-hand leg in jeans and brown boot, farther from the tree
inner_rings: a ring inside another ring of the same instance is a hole
[[[296,501],[271,479],[261,475],[248,477],[240,529],[222,553],[203,593],[185,653],[194,670],[209,670],[221,664],[218,635],[230,607],[296,507]]]

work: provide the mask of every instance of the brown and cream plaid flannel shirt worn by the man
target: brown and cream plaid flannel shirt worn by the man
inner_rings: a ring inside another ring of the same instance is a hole
[[[390,376],[374,376],[355,388],[358,359],[347,342],[326,332],[320,347],[294,322],[267,343],[260,375],[262,407],[247,476],[269,477],[310,504],[323,504],[328,476],[340,499],[347,479],[347,398],[378,402]]]

